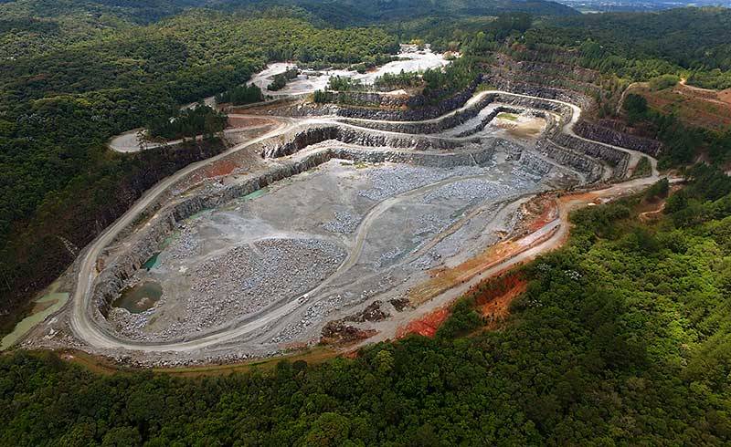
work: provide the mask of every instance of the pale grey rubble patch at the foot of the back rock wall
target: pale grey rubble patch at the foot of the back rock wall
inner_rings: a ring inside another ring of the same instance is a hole
[[[407,192],[430,183],[440,182],[450,177],[478,175],[485,172],[479,166],[459,166],[456,168],[427,168],[406,164],[386,165],[368,170],[365,175],[373,184],[373,188],[362,190],[358,195],[375,202]]]

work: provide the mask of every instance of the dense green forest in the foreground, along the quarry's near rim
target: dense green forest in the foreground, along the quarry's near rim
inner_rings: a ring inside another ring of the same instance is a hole
[[[727,445],[731,181],[698,166],[667,193],[574,213],[485,327],[461,298],[435,338],[228,377],[99,375],[55,353],[0,359],[13,445]]]

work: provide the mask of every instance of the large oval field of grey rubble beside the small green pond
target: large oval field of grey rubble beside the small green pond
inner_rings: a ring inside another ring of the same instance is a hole
[[[220,327],[259,312],[272,303],[306,293],[334,273],[344,250],[321,239],[264,239],[241,245],[198,265],[185,319],[163,331],[144,333],[147,315],[115,315],[124,335],[133,339],[170,340]]]

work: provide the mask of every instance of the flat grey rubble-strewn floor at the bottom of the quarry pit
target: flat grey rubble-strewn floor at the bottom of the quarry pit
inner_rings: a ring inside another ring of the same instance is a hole
[[[132,280],[160,284],[160,302],[116,312],[115,323],[128,338],[172,341],[308,294],[288,322],[251,343],[317,340],[328,318],[402,296],[431,268],[511,233],[515,210],[506,205],[557,184],[510,162],[440,169],[331,160],[185,221],[156,265]]]

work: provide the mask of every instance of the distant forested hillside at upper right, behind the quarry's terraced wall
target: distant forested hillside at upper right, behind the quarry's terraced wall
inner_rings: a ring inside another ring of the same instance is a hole
[[[652,14],[560,18],[540,33],[553,44],[592,43],[589,51],[582,47],[588,67],[649,80],[664,74],[680,75],[683,70],[731,70],[729,26],[728,8],[679,8]],[[692,78],[691,82],[706,87],[703,76]]]

